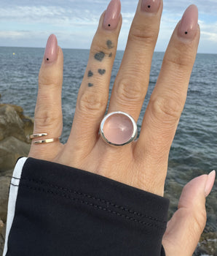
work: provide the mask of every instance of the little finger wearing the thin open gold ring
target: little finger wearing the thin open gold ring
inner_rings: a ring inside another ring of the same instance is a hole
[[[47,46],[39,72],[39,91],[35,109],[33,133],[47,133],[43,137],[59,138],[63,129],[61,90],[63,83],[63,52],[58,47],[54,34],[47,40]],[[41,140],[40,138],[33,139]],[[50,159],[60,142],[36,145],[32,143],[30,157]]]

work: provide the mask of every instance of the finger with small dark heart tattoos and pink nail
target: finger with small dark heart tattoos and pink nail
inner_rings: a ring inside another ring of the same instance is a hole
[[[92,40],[87,69],[79,89],[74,122],[66,148],[76,152],[92,149],[98,138],[100,121],[108,103],[111,69],[117,51],[122,24],[119,0],[112,0],[100,17],[98,30]],[[74,145],[74,147],[71,147]]]

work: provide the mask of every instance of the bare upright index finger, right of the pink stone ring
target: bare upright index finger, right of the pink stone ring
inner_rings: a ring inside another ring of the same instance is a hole
[[[175,130],[186,101],[189,79],[197,54],[200,29],[197,24],[198,10],[190,6],[173,32],[167,47],[157,84],[151,94],[149,105],[143,118],[136,153],[146,152],[152,162],[150,170],[157,163],[165,163],[173,142]]]

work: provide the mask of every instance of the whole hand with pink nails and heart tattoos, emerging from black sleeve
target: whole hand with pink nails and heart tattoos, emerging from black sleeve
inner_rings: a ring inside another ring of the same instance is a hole
[[[149,86],[161,15],[162,1],[139,1],[108,112],[120,110],[138,120]],[[190,6],[173,32],[138,140],[122,147],[108,146],[98,131],[106,112],[111,69],[122,24],[120,2],[112,0],[100,18],[92,41],[67,143],[32,143],[29,157],[98,173],[163,195],[170,146],[184,108],[197,54],[200,38],[197,19],[197,7]],[[51,35],[39,72],[34,133],[47,132],[47,138],[60,137],[62,80],[63,52],[56,37]],[[162,241],[167,256],[186,256],[194,252],[205,227],[205,192],[207,195],[210,192],[213,176],[215,173],[200,176],[184,188],[178,211],[168,222]]]

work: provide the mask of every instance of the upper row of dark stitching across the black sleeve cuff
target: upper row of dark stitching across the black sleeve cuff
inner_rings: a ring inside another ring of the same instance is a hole
[[[14,178],[14,177],[12,177]],[[19,179],[19,178],[17,178]],[[129,208],[125,208],[124,206],[118,206],[117,204],[115,203],[111,203],[109,201],[106,201],[106,200],[103,200],[101,199],[100,197],[94,197],[92,195],[87,195],[85,193],[82,193],[82,192],[78,192],[76,190],[72,190],[72,189],[68,189],[68,188],[64,188],[64,187],[59,187],[59,186],[56,186],[56,185],[53,185],[53,184],[50,184],[48,182],[45,182],[45,181],[36,181],[35,179],[29,179],[29,178],[22,178],[23,180],[27,180],[27,181],[31,181],[31,182],[35,182],[36,184],[44,184],[46,185],[47,187],[52,187],[52,188],[55,188],[55,189],[60,189],[60,190],[63,190],[63,191],[67,191],[67,192],[70,192],[70,193],[73,193],[73,194],[76,194],[76,195],[81,195],[83,197],[88,197],[90,199],[93,199],[93,200],[98,200],[100,201],[101,203],[106,203],[108,204],[109,206],[114,206],[115,208],[119,208],[121,209],[122,211],[128,211],[130,212],[130,214],[134,214],[134,215],[137,215],[138,217],[143,217],[143,218],[148,218],[148,219],[151,219],[151,220],[154,220],[154,221],[157,221],[157,222],[162,222],[162,223],[167,223],[166,221],[163,221],[161,219],[157,219],[157,218],[154,218],[154,217],[150,217],[150,216],[147,216],[146,214],[141,214],[137,211],[133,211],[133,210],[130,210]]]

